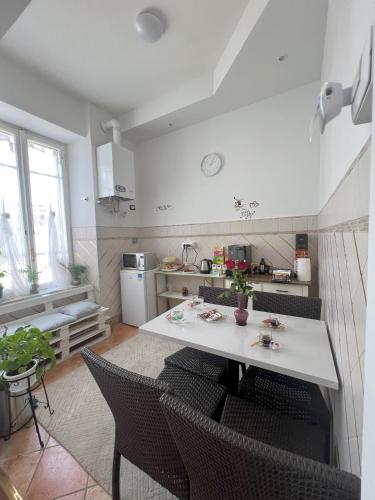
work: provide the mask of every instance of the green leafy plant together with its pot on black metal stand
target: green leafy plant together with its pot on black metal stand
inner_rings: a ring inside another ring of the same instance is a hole
[[[42,333],[39,328],[20,327],[13,334],[7,329],[0,337],[0,370],[3,370],[3,379],[13,393],[23,392],[33,385],[43,373],[41,361],[50,361],[51,366],[56,364],[56,355],[50,346],[52,333]]]

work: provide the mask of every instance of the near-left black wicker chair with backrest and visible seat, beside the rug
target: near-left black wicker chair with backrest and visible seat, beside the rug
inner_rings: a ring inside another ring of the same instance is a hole
[[[225,389],[183,370],[180,370],[179,376],[174,369],[169,376],[164,373],[159,380],[154,380],[120,368],[87,347],[81,354],[115,419],[113,498],[120,499],[121,456],[178,498],[189,498],[186,470],[160,407],[159,398],[165,392],[172,392],[177,397],[186,398],[183,400],[189,405],[193,404],[196,409],[213,415],[224,399]]]

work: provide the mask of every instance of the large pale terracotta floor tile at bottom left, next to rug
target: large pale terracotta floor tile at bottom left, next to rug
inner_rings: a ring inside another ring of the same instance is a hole
[[[25,500],[50,500],[86,487],[87,472],[62,447],[46,448]]]

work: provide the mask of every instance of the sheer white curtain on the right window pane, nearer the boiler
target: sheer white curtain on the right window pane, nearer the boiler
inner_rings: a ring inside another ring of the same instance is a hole
[[[60,225],[59,225],[60,227]],[[52,282],[57,288],[69,285],[68,252],[63,234],[58,234],[56,214],[52,210],[48,216],[48,263]]]

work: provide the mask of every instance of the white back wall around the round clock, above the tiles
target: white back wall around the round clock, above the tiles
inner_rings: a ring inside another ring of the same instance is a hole
[[[142,226],[238,219],[233,197],[260,203],[256,218],[313,215],[318,208],[319,141],[308,140],[319,83],[152,139],[136,149]],[[225,157],[201,173],[210,152]],[[172,209],[156,212],[161,204]]]

